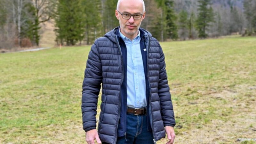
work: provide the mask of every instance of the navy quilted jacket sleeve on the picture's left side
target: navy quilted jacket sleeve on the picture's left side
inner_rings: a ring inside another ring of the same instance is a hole
[[[98,97],[102,83],[102,70],[97,40],[91,47],[84,71],[82,90],[82,116],[85,132],[96,129]]]

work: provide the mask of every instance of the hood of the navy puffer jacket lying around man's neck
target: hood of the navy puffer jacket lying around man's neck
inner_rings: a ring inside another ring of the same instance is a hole
[[[119,28],[120,26],[114,28],[113,30],[107,32],[104,37],[107,37],[109,40],[113,41],[114,43],[116,42],[116,36],[119,36]],[[147,40],[148,36],[151,39],[152,34],[150,32],[148,32],[147,30],[143,29],[143,28],[139,28],[140,31],[140,35],[142,38],[144,38],[145,40]]]

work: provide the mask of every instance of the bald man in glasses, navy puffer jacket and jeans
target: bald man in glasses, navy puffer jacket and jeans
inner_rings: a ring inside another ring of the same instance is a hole
[[[159,42],[140,28],[143,0],[119,0],[120,26],[95,41],[82,91],[83,129],[94,143],[156,143],[167,133],[173,143],[175,119]],[[96,110],[102,83],[100,118]]]

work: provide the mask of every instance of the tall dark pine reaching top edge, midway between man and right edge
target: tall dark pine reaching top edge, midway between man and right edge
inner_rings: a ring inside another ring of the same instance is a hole
[[[211,0],[199,0],[198,1],[198,18],[196,20],[197,29],[199,32],[199,38],[207,38],[206,31],[211,22],[214,22],[214,13],[211,5]]]

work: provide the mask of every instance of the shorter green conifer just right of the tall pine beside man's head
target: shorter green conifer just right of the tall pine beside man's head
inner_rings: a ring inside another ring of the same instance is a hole
[[[183,40],[188,37],[188,12],[184,10],[179,14],[179,36]]]

